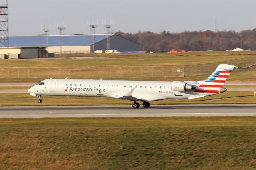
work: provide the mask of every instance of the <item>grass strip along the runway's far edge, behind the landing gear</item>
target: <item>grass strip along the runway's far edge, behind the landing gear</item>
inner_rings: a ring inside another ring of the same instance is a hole
[[[230,98],[232,97],[232,98]],[[233,98],[234,97],[234,98]],[[238,98],[235,98],[238,97]],[[43,102],[38,103],[38,97],[29,93],[1,93],[0,106],[53,106],[53,105],[131,105],[132,101],[111,99],[107,97],[71,97],[43,96]],[[213,100],[214,99],[214,100]],[[218,99],[218,100],[215,100]],[[209,104],[209,103],[256,103],[256,97],[252,91],[225,92],[212,97],[199,99],[174,100],[166,99],[152,101],[152,105],[159,104]]]

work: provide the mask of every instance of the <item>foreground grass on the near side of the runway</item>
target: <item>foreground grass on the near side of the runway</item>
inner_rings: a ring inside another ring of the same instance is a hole
[[[254,170],[256,117],[0,119],[0,167]]]

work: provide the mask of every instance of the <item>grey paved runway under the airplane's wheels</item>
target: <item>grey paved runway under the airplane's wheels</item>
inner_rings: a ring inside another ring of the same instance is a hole
[[[0,118],[256,116],[255,104],[0,107]]]

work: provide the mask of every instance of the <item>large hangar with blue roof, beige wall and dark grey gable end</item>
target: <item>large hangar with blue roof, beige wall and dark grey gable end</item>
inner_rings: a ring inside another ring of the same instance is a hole
[[[140,44],[116,34],[95,34],[95,50],[106,50],[107,36],[110,40],[110,49],[118,51],[140,51]],[[62,52],[89,53],[92,51],[92,35],[62,35]],[[9,36],[10,47],[41,47],[45,46],[45,36]],[[50,53],[60,52],[60,36],[48,35]]]

